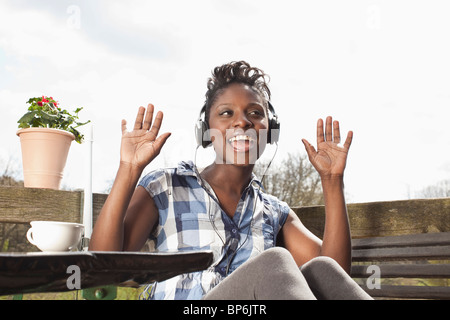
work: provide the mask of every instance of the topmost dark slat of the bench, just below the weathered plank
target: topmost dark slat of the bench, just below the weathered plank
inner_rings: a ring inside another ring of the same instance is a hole
[[[402,236],[352,239],[355,250],[389,247],[418,247],[450,245],[450,232],[422,233]]]

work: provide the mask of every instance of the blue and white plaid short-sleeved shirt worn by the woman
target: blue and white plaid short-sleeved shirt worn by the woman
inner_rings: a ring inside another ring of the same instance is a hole
[[[145,175],[144,187],[159,210],[159,223],[150,235],[158,251],[212,250],[207,270],[181,274],[150,284],[144,299],[201,299],[249,258],[275,246],[289,213],[286,203],[265,194],[253,176],[233,218],[221,209],[213,189],[192,162]]]

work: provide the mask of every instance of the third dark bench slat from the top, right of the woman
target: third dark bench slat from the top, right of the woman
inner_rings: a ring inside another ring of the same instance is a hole
[[[353,265],[351,276],[367,278],[367,267]],[[450,264],[380,264],[381,278],[450,278]]]

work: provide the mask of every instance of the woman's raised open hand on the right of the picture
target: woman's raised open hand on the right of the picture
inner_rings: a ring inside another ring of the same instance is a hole
[[[325,134],[323,120],[317,121],[317,151],[305,139],[302,139],[308,153],[309,161],[316,168],[320,177],[342,177],[347,162],[348,150],[353,139],[353,132],[349,131],[344,145],[341,146],[341,133],[339,122],[327,117],[325,124]]]

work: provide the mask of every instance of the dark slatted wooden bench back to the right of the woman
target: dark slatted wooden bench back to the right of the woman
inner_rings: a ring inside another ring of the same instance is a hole
[[[450,232],[354,239],[352,255],[352,277],[374,298],[450,299]],[[399,278],[444,280],[438,286],[383,283]]]

